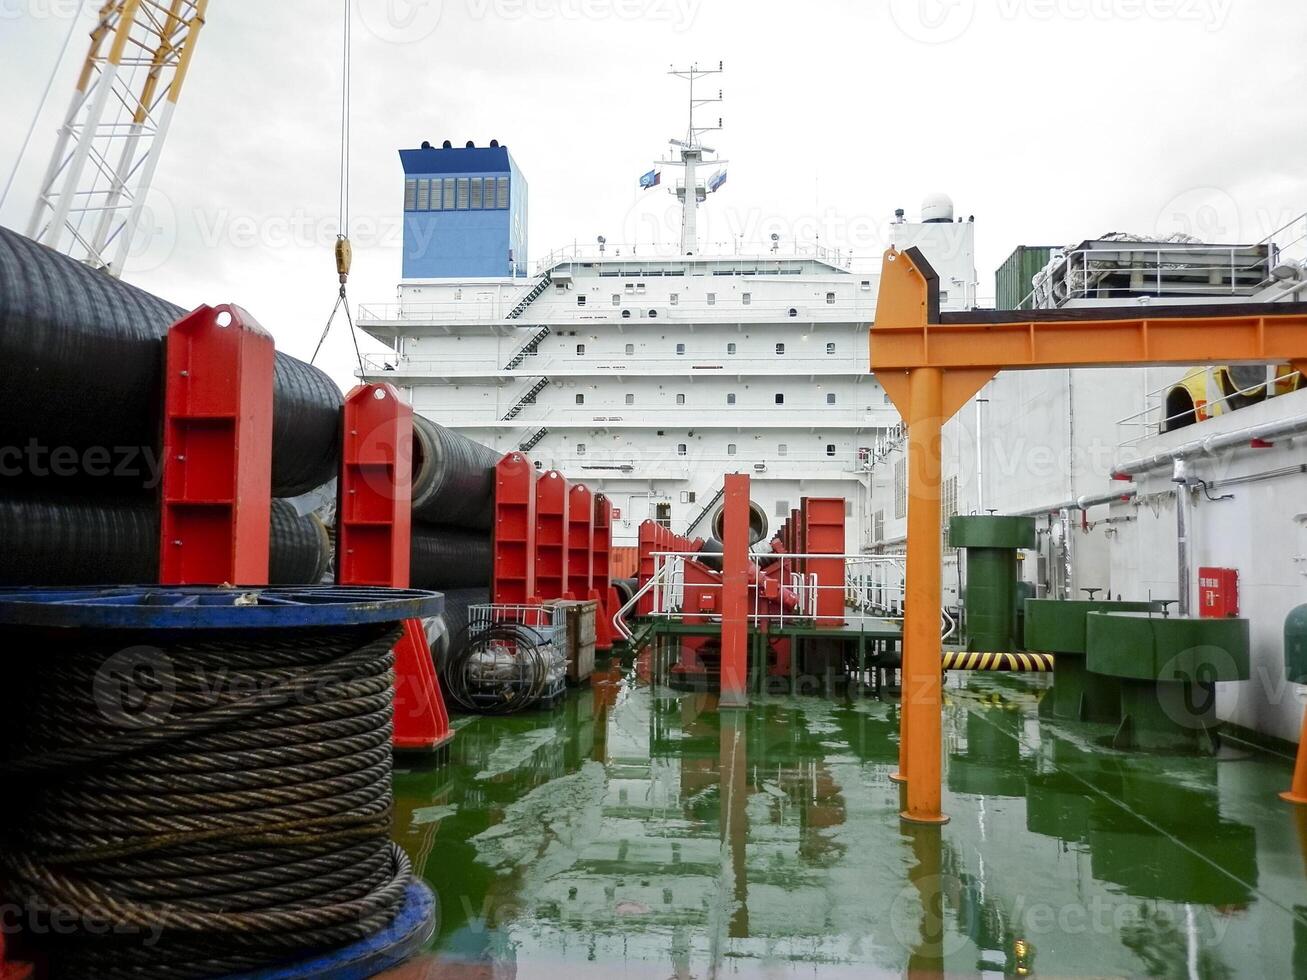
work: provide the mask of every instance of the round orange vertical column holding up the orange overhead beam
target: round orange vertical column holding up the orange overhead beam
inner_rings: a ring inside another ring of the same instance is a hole
[[[940,670],[940,438],[944,372],[908,374],[907,592],[903,622],[903,713],[899,751],[906,762],[907,808],[914,823],[944,823],[941,813]],[[910,707],[911,706],[911,707]]]

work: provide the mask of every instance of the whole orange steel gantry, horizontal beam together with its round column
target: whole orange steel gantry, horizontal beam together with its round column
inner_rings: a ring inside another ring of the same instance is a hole
[[[1307,304],[1131,306],[941,314],[916,248],[881,265],[870,367],[907,423],[907,597],[899,771],[915,823],[942,823],[940,444],[999,371],[1287,362],[1307,376]]]

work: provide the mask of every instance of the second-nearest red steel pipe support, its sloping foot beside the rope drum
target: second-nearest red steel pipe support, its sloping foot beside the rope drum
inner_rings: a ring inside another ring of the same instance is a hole
[[[413,409],[389,384],[345,397],[336,507],[336,581],[408,588],[412,546]],[[396,749],[438,749],[454,737],[426,631],[404,622],[395,644]]]

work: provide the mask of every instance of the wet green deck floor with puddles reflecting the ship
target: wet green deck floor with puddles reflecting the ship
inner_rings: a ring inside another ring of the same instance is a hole
[[[618,669],[459,719],[446,767],[396,775],[443,904],[435,972],[405,976],[1010,976],[1022,942],[1033,976],[1307,976],[1289,763],[1112,751],[1036,717],[1046,682],[950,678],[953,819],[915,831],[890,703],[719,712]]]

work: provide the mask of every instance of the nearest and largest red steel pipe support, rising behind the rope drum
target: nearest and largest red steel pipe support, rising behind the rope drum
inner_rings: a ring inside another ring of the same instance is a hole
[[[265,585],[272,337],[239,306],[201,306],[165,342],[159,583]]]

